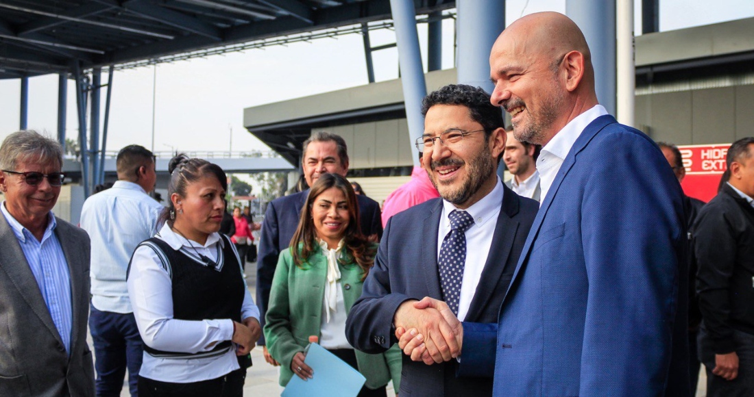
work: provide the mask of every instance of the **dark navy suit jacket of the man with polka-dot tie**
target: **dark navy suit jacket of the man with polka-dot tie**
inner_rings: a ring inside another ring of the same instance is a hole
[[[498,310],[538,210],[534,200],[503,187],[503,201],[492,246],[466,318],[498,319]],[[396,341],[395,310],[404,301],[429,296],[443,299],[437,271],[437,233],[441,199],[429,200],[394,215],[385,228],[375,266],[364,280],[361,298],[346,322],[348,342],[366,353],[381,353]],[[403,356],[401,397],[442,395],[480,397],[492,394],[492,378],[457,377],[455,360],[440,365],[412,362]]]

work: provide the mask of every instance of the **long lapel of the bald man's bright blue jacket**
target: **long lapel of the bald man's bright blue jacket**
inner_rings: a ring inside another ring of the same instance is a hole
[[[596,136],[596,134],[599,133],[602,128],[604,128],[608,124],[616,122],[617,121],[615,121],[615,118],[613,118],[611,115],[600,116],[599,118],[596,118],[594,121],[592,121],[587,126],[587,128],[585,128],[584,131],[581,132],[581,135],[578,136],[576,142],[574,142],[571,150],[566,155],[566,159],[563,160],[563,163],[560,166],[555,179],[553,180],[553,185],[550,186],[550,190],[547,191],[547,197],[544,197],[544,201],[542,202],[542,205],[537,212],[536,218],[534,218],[532,230],[529,231],[529,237],[526,237],[526,243],[524,243],[523,251],[521,252],[521,257],[519,258],[519,263],[516,265],[516,271],[513,273],[513,279],[510,280],[508,292],[510,292],[510,288],[513,286],[513,283],[516,282],[516,279],[518,279],[518,275],[525,269],[526,263],[529,262],[529,255],[531,255],[532,253],[532,244],[534,243],[537,234],[539,234],[539,229],[542,227],[542,221],[544,221],[544,217],[547,215],[547,211],[550,209],[550,206],[553,203],[562,180],[566,178],[566,175],[568,175],[568,173],[576,163],[576,157],[578,156],[578,153],[587,147],[589,142],[591,142],[594,136]],[[505,293],[505,295],[507,298],[507,292]]]

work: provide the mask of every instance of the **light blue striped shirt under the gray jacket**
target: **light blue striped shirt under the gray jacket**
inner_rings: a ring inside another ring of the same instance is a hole
[[[16,235],[23,255],[26,256],[26,262],[29,263],[34,278],[37,280],[44,304],[47,305],[55,328],[60,333],[60,339],[63,340],[63,345],[70,354],[73,323],[71,274],[66,256],[63,255],[63,247],[60,246],[60,241],[54,233],[57,226],[55,215],[50,212],[50,221],[40,242],[8,212],[5,208],[5,201],[0,208],[2,208],[2,215],[8,220],[8,224]]]

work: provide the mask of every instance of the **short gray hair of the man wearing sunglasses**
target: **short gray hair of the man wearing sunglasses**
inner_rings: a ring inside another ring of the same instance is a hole
[[[52,160],[57,160],[63,167],[63,146],[34,130],[12,133],[0,145],[0,169],[14,171],[18,163],[48,163]]]

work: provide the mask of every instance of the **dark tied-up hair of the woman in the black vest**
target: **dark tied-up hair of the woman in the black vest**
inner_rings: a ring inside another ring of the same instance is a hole
[[[175,157],[170,159],[170,163],[167,164],[167,172],[170,173],[170,182],[167,184],[168,205],[160,214],[158,221],[160,224],[167,222],[170,227],[173,226],[173,219],[171,219],[170,213],[172,212],[173,216],[175,216],[176,207],[173,204],[173,200],[170,200],[170,196],[173,193],[177,193],[179,196],[185,197],[186,186],[191,182],[211,175],[216,177],[218,182],[220,182],[222,190],[228,191],[228,177],[225,176],[225,171],[220,166],[201,158],[190,158],[185,153],[176,154]]]

